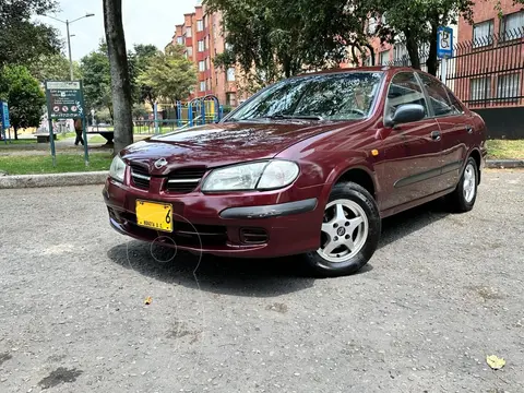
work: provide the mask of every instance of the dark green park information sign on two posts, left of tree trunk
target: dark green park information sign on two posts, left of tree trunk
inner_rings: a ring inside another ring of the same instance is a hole
[[[84,139],[85,166],[90,165],[90,153],[87,148],[86,116],[84,110],[84,95],[82,81],[47,81],[47,116],[49,119],[49,135],[51,144],[52,164],[56,165],[55,134],[52,120],[82,119],[82,133]]]

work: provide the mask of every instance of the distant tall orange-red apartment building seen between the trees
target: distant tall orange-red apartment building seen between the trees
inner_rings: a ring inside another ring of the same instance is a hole
[[[207,13],[205,5],[183,15],[176,25],[172,45],[186,47],[186,57],[194,63],[198,83],[189,99],[213,94],[223,105],[237,106],[237,73],[235,68],[215,68],[214,59],[225,50],[225,35],[221,13]]]

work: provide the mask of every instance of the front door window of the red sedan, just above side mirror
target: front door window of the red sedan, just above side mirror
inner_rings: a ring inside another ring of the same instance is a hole
[[[392,115],[401,105],[418,104],[424,107],[428,116],[428,105],[415,73],[400,72],[393,76],[385,102],[385,115]]]

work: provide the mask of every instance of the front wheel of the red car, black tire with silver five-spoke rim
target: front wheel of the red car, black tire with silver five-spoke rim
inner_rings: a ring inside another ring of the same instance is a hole
[[[319,277],[354,274],[371,259],[380,239],[381,218],[373,196],[354,182],[331,191],[320,228],[321,246],[305,254]]]

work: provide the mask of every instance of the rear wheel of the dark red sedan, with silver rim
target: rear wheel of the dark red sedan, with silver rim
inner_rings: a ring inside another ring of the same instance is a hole
[[[448,196],[448,203],[452,212],[466,213],[473,209],[477,200],[478,179],[477,163],[473,157],[469,157],[455,191]]]

